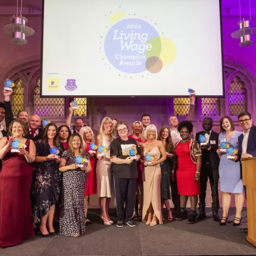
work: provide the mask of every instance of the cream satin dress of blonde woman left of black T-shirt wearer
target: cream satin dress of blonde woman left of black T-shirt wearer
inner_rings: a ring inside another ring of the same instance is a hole
[[[98,160],[96,164],[97,195],[111,198],[110,141],[105,135],[102,135],[102,146],[107,150],[104,152],[105,157],[102,160]]]

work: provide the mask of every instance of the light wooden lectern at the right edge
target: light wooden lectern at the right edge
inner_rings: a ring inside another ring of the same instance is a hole
[[[248,236],[246,240],[256,247],[256,157],[242,160],[243,185],[246,186]]]

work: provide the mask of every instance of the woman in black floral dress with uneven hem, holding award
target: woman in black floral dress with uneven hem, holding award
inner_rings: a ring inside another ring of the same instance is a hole
[[[53,227],[55,204],[60,199],[61,191],[58,163],[63,153],[63,145],[60,143],[55,123],[47,124],[43,139],[36,141],[35,145],[36,167],[32,182],[33,223],[35,225],[40,220],[39,229],[42,236],[50,237],[55,235]]]

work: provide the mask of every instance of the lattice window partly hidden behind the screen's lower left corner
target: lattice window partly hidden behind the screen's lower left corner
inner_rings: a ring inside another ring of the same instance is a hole
[[[40,77],[34,89],[34,114],[43,116],[64,116],[64,98],[40,98]]]

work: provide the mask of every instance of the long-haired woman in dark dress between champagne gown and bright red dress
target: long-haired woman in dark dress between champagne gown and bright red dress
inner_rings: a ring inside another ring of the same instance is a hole
[[[168,221],[173,221],[173,214],[171,213],[171,208],[169,204],[169,199],[171,199],[170,193],[170,182],[174,179],[174,173],[171,172],[173,161],[172,157],[174,154],[173,143],[171,143],[170,129],[167,126],[163,126],[159,132],[158,140],[163,142],[164,148],[166,149],[166,161],[160,163],[161,167],[161,210],[163,210],[164,205],[166,205],[166,210],[168,211]],[[164,217],[162,217],[164,220]]]

